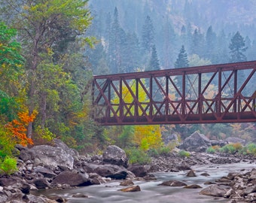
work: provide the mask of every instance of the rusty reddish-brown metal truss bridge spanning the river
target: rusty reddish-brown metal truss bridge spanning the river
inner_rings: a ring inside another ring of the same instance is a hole
[[[93,77],[105,126],[256,122],[256,61]]]

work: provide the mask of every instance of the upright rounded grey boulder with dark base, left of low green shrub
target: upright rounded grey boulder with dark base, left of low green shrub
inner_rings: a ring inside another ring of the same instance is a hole
[[[108,164],[128,166],[128,158],[125,151],[115,145],[108,146],[102,158],[103,162]]]

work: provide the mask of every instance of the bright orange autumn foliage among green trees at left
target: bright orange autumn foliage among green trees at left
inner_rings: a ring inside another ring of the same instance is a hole
[[[37,111],[33,111],[30,116],[29,111],[20,112],[18,113],[19,118],[17,120],[14,119],[5,125],[5,127],[11,132],[14,141],[17,144],[22,144],[23,146],[33,144],[32,139],[26,136],[26,131],[29,123],[35,120],[37,114]]]

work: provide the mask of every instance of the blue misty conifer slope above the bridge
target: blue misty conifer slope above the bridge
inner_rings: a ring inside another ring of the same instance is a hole
[[[251,0],[93,0],[88,33],[99,43],[85,55],[93,74],[180,68],[182,52],[188,66],[255,60],[255,8]]]

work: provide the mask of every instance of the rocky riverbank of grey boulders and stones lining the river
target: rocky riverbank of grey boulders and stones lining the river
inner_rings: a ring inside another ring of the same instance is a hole
[[[102,156],[80,156],[77,151],[70,149],[61,141],[55,140],[54,143],[53,146],[41,145],[31,149],[17,146],[17,150],[20,151],[19,171],[11,177],[0,178],[0,202],[65,202],[65,198],[61,196],[47,198],[32,195],[32,190],[90,186],[106,183],[111,179],[154,180],[154,176],[150,174],[152,172],[186,171],[193,165],[209,163],[255,163],[251,156],[224,157],[191,153],[190,157],[181,157],[174,152],[169,156],[152,158],[150,165],[129,165],[126,154],[117,146],[109,146]],[[212,183],[209,189],[215,191],[217,186],[224,189],[217,192],[218,196],[233,199],[233,202],[254,202],[255,185],[256,169],[247,174],[228,174],[227,177]],[[128,191],[133,191],[133,187]],[[216,193],[206,192],[204,195]]]

